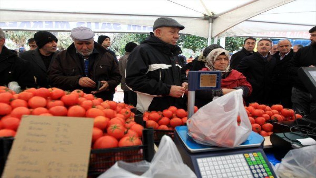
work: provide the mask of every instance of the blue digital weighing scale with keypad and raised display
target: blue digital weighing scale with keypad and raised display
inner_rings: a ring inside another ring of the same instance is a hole
[[[195,90],[219,89],[221,77],[219,71],[189,71],[188,118],[194,113]],[[187,126],[175,127],[174,143],[198,178],[276,178],[259,134],[252,131],[244,143],[224,148],[196,143],[187,133]]]

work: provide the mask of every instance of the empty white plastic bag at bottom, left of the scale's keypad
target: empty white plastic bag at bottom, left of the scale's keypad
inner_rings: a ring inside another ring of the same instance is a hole
[[[142,174],[143,173],[143,174]],[[116,162],[99,178],[196,178],[193,171],[183,163],[181,155],[168,136],[163,136],[159,149],[151,163],[141,161]]]

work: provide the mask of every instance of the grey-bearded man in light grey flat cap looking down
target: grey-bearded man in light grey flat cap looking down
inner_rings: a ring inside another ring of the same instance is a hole
[[[94,32],[87,27],[72,29],[70,37],[74,42],[58,54],[49,71],[52,86],[83,89],[104,100],[113,100],[121,75],[112,55],[94,42]]]

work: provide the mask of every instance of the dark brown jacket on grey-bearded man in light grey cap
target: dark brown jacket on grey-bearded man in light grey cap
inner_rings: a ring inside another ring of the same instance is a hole
[[[119,67],[113,60],[112,55],[97,42],[94,42],[94,49],[97,53],[91,54],[94,55],[94,65],[89,78],[94,81],[107,81],[109,84],[108,89],[97,93],[96,96],[102,99],[113,99],[115,87],[119,85],[122,78],[119,74]],[[79,79],[86,75],[83,59],[79,58],[74,43],[67,50],[57,55],[48,73],[51,84],[54,87],[63,90],[83,89],[86,93],[90,93],[93,90],[92,88],[85,88],[79,85]]]

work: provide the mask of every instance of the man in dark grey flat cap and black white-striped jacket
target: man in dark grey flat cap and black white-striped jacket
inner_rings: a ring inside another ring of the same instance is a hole
[[[174,105],[184,107],[183,94],[187,85],[181,73],[176,45],[179,30],[185,27],[172,18],[155,20],[149,37],[133,49],[127,60],[126,85],[137,92],[137,110],[163,111]]]

